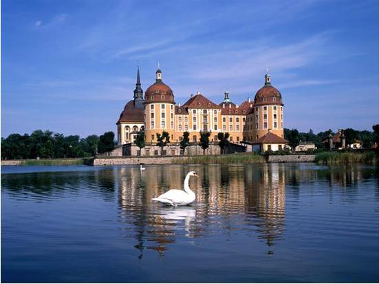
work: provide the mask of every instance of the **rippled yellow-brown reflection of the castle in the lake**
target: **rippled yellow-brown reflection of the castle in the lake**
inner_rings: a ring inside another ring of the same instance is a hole
[[[195,204],[172,208],[151,201],[170,188],[183,188],[190,170],[199,174],[199,179],[190,181]],[[120,221],[133,225],[125,226],[124,234],[136,238],[140,257],[145,249],[164,255],[178,237],[232,234],[241,226],[269,247],[283,234],[285,172],[281,164],[147,166],[144,172],[120,168],[114,178],[119,183]]]

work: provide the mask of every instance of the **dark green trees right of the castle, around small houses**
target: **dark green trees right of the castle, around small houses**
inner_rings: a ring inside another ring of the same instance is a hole
[[[372,129],[373,132],[368,130],[354,130],[352,128],[344,129],[343,134],[345,134],[346,145],[354,143],[355,140],[359,140],[362,142],[363,148],[371,148],[373,143],[378,143],[379,141],[379,124],[373,125]],[[327,148],[329,144],[322,142],[327,140],[330,134],[334,135],[336,133],[330,129],[314,134],[312,129],[309,132],[299,132],[296,129],[290,130],[284,128],[284,138],[289,141],[291,148],[295,148],[299,145],[300,141],[312,142],[318,149]]]

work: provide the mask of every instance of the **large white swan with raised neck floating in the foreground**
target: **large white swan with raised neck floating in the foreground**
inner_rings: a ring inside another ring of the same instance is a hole
[[[164,194],[158,196],[155,201],[159,201],[160,203],[164,203],[166,205],[177,206],[177,205],[188,205],[195,201],[195,192],[189,188],[189,178],[191,176],[197,176],[196,172],[188,172],[186,179],[184,179],[184,191],[183,190],[169,190]]]

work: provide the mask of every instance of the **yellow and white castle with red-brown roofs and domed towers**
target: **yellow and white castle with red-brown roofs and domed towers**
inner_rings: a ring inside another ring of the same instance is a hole
[[[268,72],[254,101],[247,99],[240,105],[230,100],[228,92],[219,104],[200,92],[191,94],[183,105],[177,104],[173,90],[163,83],[162,70],[158,68],[155,74],[155,83],[143,92],[138,68],[133,100],[125,105],[116,123],[119,145],[133,143],[140,131],[144,131],[147,145],[157,143],[157,133],[163,131],[169,132],[171,143],[180,142],[183,132],[189,132],[190,141],[197,143],[200,132],[210,132],[210,141],[217,141],[217,133],[228,132],[232,143],[268,141],[277,145],[270,150],[281,150],[287,142],[283,139],[281,92],[272,86]]]

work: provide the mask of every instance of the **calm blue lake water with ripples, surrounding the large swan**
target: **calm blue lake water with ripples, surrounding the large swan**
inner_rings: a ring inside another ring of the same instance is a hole
[[[379,281],[376,167],[146,168],[1,167],[1,281]]]

